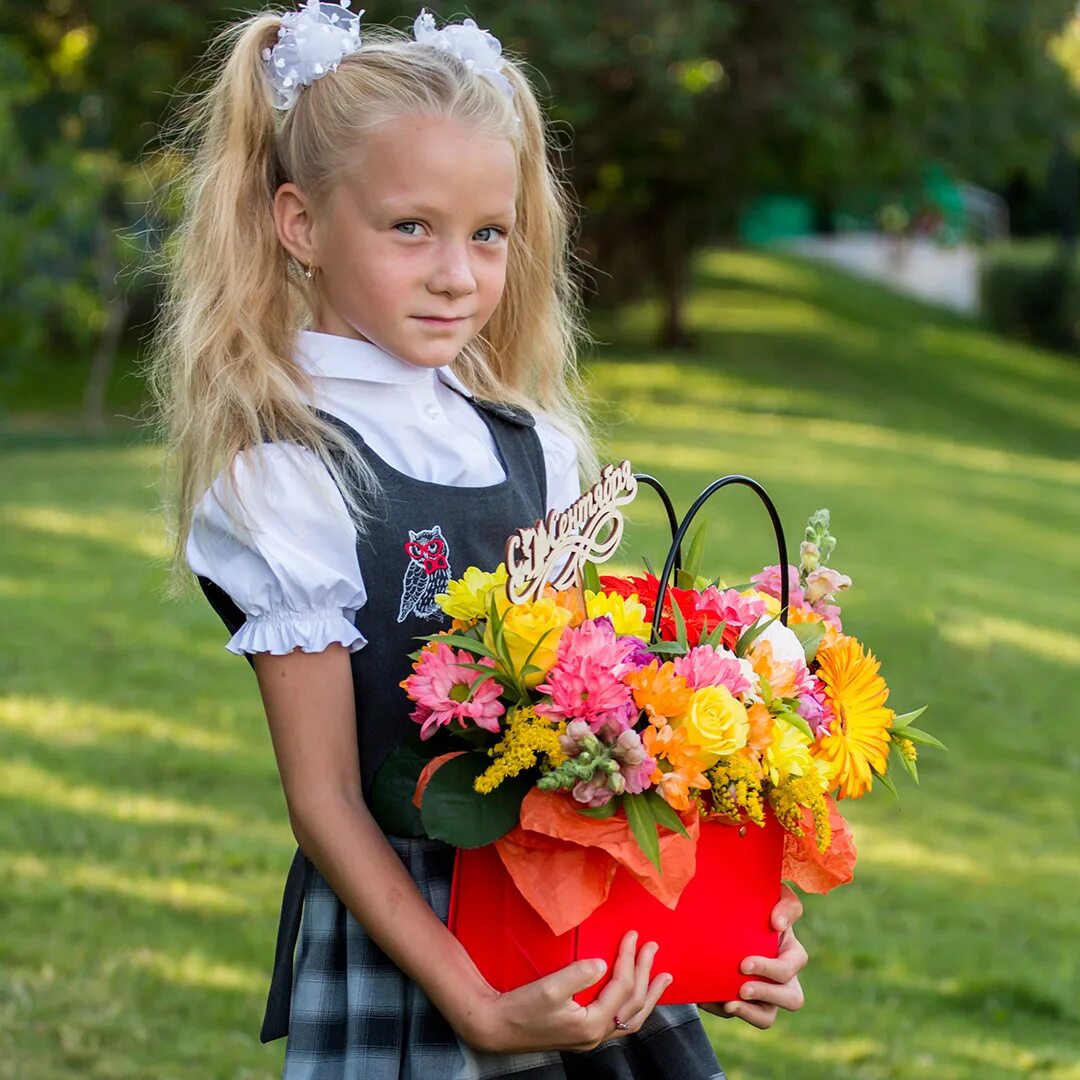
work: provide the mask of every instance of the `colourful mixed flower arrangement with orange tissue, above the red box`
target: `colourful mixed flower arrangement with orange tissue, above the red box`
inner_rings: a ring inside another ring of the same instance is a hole
[[[580,840],[575,819],[593,819],[597,835],[599,821],[624,820],[659,894],[662,869],[685,883],[688,846],[692,876],[700,822],[764,827],[771,814],[787,834],[786,877],[816,892],[850,880],[835,800],[876,783],[895,792],[892,765],[917,782],[918,746],[941,743],[914,726],[923,710],[889,707],[879,661],[843,630],[851,580],[828,565],[828,511],[810,517],[798,566],[741,588],[699,575],[700,541],[659,619],[651,571],[598,577],[586,565],[582,590],[549,586],[521,604],[501,565],[449,583],[436,603],[451,627],[426,639],[402,683],[428,835],[473,848],[512,831],[521,840],[529,822]],[[632,862],[610,835],[608,850]]]

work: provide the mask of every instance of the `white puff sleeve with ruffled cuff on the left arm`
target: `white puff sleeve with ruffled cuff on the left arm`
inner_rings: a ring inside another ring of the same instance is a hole
[[[246,616],[226,648],[238,656],[363,648],[354,620],[367,592],[356,532],[322,463],[302,447],[268,443],[239,455],[233,470],[242,509],[234,500],[226,509],[219,476],[195,508],[186,549],[191,569]]]

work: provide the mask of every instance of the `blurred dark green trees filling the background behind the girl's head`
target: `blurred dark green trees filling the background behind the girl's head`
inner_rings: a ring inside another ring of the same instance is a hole
[[[828,200],[903,183],[928,159],[986,185],[1043,175],[1076,103],[1048,42],[1074,8],[535,0],[478,17],[550,90],[599,268],[594,301],[657,293],[662,342],[685,345],[692,256],[748,194]],[[407,26],[416,11],[391,0],[372,15]],[[159,124],[239,14],[235,0],[0,3],[0,327],[13,342],[0,366],[50,343],[96,349],[89,415],[124,319],[116,267],[141,266],[159,239],[140,204]]]

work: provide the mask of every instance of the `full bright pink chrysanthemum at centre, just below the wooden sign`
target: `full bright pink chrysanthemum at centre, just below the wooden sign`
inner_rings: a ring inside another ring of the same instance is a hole
[[[637,644],[616,636],[607,619],[583,622],[563,632],[558,659],[537,687],[551,700],[536,706],[553,720],[584,720],[594,733],[609,737],[637,717],[633,691],[623,676],[634,670],[630,656]]]

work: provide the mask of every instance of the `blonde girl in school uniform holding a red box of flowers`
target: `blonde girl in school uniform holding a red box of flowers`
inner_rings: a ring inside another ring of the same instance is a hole
[[[471,21],[362,33],[342,4],[227,31],[152,369],[176,565],[253,663],[299,845],[262,1039],[288,1036],[287,1080],[721,1077],[633,932],[589,1008],[600,961],[495,991],[445,927],[453,850],[367,809],[438,581],[498,563],[595,455],[532,89]],[[768,1026],[805,961],[788,932],[719,1011]]]

